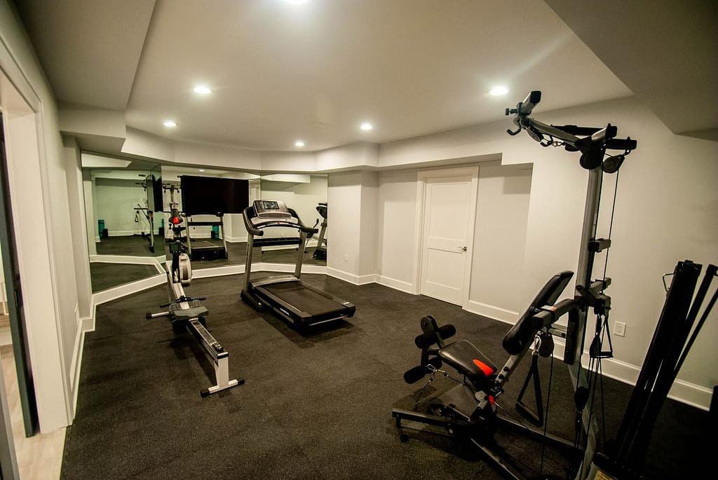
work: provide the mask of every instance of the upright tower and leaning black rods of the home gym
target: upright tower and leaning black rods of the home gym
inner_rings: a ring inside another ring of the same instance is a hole
[[[605,289],[610,285],[611,280],[605,276],[592,280],[595,255],[607,250],[611,245],[610,234],[607,239],[596,238],[602,176],[604,173],[617,174],[625,157],[636,148],[637,143],[630,137],[615,138],[617,128],[611,124],[605,128],[587,128],[574,125],[546,125],[536,121],[529,115],[540,100],[541,92],[533,91],[523,102],[518,103],[516,108],[506,109],[506,115],[515,115],[513,123],[518,127],[516,131],[508,130],[508,133],[517,135],[525,130],[541,146],[564,146],[567,151],[579,151],[581,153],[579,163],[584,169],[589,170],[576,294],[573,300],[576,309],[569,311],[564,354],[564,362],[569,364],[569,372],[574,384],[574,400],[578,412],[577,425],[583,425],[586,429],[584,460],[577,472],[577,479],[605,478],[602,476],[605,472],[621,478],[638,477],[643,469],[651,433],[661,406],[701,326],[717,301],[718,291],[714,292],[699,321],[695,323],[707,292],[718,276],[718,267],[708,265],[697,291],[695,288],[701,265],[691,260],[681,261],[676,265],[673,273],[668,274],[673,276],[673,281],[670,288],[666,287],[663,311],[658,319],[619,431],[615,440],[606,442],[605,453],[597,452],[591,390],[595,388],[595,380],[600,375],[601,359],[612,357],[608,327],[611,298],[605,294]],[[623,150],[623,153],[607,156],[607,150]],[[587,375],[586,370],[582,368],[581,356],[584,351],[590,309],[593,309],[596,315],[596,324],[588,349]],[[572,314],[573,312],[578,314]],[[604,337],[608,339],[607,350],[602,347]]]

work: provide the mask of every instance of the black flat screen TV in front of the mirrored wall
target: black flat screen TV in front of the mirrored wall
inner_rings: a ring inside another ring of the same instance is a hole
[[[217,177],[180,177],[185,215],[242,213],[249,206],[249,181]]]

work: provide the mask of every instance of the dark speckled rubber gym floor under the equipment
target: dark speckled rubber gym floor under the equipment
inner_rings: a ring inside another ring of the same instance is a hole
[[[305,278],[353,301],[357,314],[302,335],[243,303],[242,276],[195,280],[187,288],[188,295],[208,298],[208,328],[230,352],[230,377],[246,380],[207,398],[199,392],[213,384],[214,372],[195,339],[175,337],[166,319],[144,318],[167,301],[167,288],[98,306],[97,330],[85,337],[62,478],[503,478],[454,438],[419,432],[401,443],[391,409],[413,408],[424,386],[402,380],[419,361],[414,337],[421,316],[453,323],[458,337],[471,339],[498,364],[508,357],[500,347],[508,326],[376,284]],[[544,390],[550,365],[542,362]],[[509,411],[526,369],[528,359],[499,399]],[[570,436],[574,408],[567,369],[555,362],[553,371],[549,431]],[[425,393],[453,385],[439,378]],[[605,379],[604,393],[603,423],[613,433],[630,387]],[[670,400],[663,410],[649,453],[650,478],[694,478],[707,458],[699,454],[713,438],[705,426],[708,414]],[[540,445],[508,433],[498,440],[524,468],[541,466]],[[567,461],[549,458],[543,476],[568,478]]]

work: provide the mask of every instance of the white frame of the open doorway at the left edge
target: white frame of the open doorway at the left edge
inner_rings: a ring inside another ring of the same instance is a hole
[[[24,313],[39,431],[45,433],[72,423],[77,384],[73,385],[70,379],[75,372],[70,372],[70,360],[65,356],[66,347],[62,342],[65,325],[60,321],[60,283],[52,237],[50,180],[45,162],[48,151],[45,128],[48,123],[51,128],[57,128],[57,111],[52,102],[50,111],[47,110],[45,98],[52,100],[52,95],[42,90],[42,79],[37,80],[37,75],[34,75],[37,73],[34,70],[36,65],[32,59],[15,55],[11,44],[7,44],[4,36],[0,35],[1,101],[4,114],[7,114],[4,128],[9,195],[14,202],[12,222],[19,268],[24,278]],[[34,84],[39,85],[40,90],[36,90]],[[21,135],[27,135],[27,138],[18,139],[17,122]],[[62,143],[52,146],[61,148]],[[52,150],[55,154],[62,155],[62,151],[55,150]],[[24,184],[28,179],[31,181],[29,187]],[[27,197],[31,197],[32,202],[27,202]],[[42,232],[37,232],[37,226],[32,226],[32,223],[21,222],[21,218],[32,218],[34,225],[42,225]],[[77,328],[80,329],[79,324]],[[78,355],[78,352],[73,354]]]

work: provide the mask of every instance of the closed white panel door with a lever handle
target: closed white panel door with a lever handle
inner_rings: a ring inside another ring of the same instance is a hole
[[[421,294],[464,305],[470,281],[477,169],[434,174],[440,176],[424,179]]]

